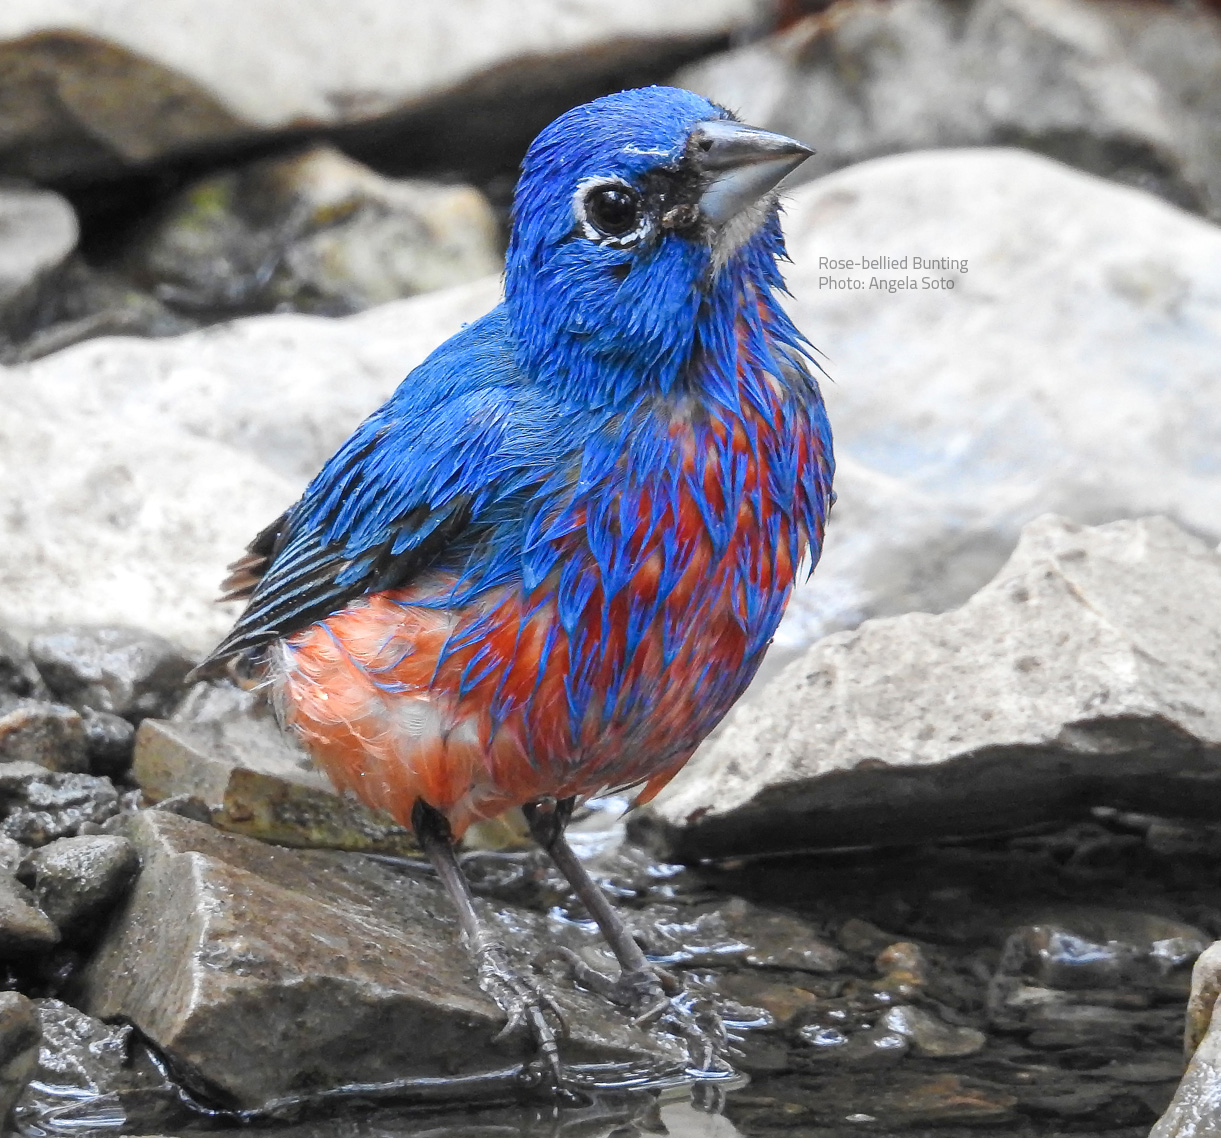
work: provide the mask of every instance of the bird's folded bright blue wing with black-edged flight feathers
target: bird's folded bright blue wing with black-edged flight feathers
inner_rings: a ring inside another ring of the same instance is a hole
[[[482,529],[525,524],[531,493],[571,453],[573,425],[521,380],[488,320],[413,371],[233,563],[226,600],[249,603],[197,674],[408,584]]]

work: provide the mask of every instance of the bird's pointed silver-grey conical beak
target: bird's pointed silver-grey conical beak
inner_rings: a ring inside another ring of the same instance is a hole
[[[708,179],[700,212],[723,226],[813,153],[795,138],[740,122],[701,122],[687,142],[689,161]]]

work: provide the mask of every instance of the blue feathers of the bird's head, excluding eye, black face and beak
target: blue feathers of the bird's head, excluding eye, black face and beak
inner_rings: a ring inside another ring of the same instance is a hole
[[[761,286],[780,284],[774,215],[728,272],[712,271],[709,241],[679,230],[652,226],[632,248],[581,232],[582,187],[613,179],[645,194],[658,171],[678,167],[700,123],[731,118],[691,92],[648,87],[578,106],[535,139],[505,264],[505,305],[527,375],[587,407],[670,393],[701,338],[730,335],[733,277],[745,269]]]

